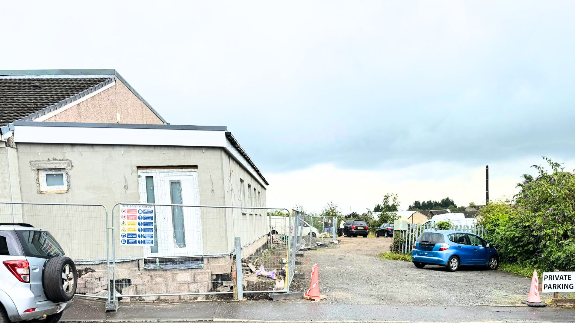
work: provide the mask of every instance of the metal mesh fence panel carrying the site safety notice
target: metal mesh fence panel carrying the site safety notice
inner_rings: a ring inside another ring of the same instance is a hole
[[[114,280],[122,301],[225,299],[289,286],[290,256],[295,258],[298,244],[297,222],[287,210],[120,203],[111,213]]]

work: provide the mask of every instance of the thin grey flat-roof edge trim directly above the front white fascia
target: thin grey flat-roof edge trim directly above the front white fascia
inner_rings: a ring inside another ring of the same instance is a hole
[[[74,127],[74,128],[126,128],[126,129],[171,129],[171,130],[213,130],[227,131],[227,126],[191,125],[143,125],[143,124],[97,124],[90,122],[33,122],[14,121],[16,126]]]

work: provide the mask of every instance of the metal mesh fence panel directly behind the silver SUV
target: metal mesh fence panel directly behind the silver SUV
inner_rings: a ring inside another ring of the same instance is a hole
[[[48,231],[56,241],[40,241],[58,256],[55,244],[74,260],[78,272],[76,295],[108,299],[107,215],[103,205],[0,202],[0,222],[25,223]]]

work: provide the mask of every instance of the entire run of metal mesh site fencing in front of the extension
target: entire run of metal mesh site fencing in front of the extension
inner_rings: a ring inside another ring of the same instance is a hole
[[[243,206],[2,202],[0,222],[51,232],[76,263],[76,295],[106,299],[109,310],[285,293],[305,233],[299,213]]]

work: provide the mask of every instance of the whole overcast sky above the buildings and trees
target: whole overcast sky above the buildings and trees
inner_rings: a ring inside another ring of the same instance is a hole
[[[226,125],[267,205],[511,197],[575,168],[573,1],[9,2],[1,69],[113,68],[171,124]]]

